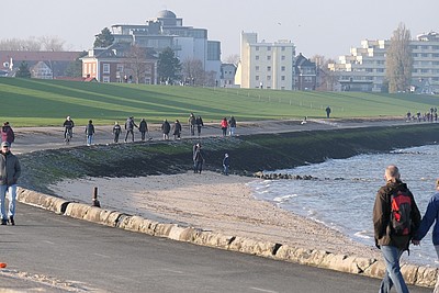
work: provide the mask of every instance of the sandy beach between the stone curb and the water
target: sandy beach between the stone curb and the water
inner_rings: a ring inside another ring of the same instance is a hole
[[[142,178],[86,178],[50,185],[64,199],[90,203],[98,187],[103,209],[203,230],[279,243],[333,253],[380,258],[379,250],[356,243],[320,223],[256,200],[248,177],[201,174]]]

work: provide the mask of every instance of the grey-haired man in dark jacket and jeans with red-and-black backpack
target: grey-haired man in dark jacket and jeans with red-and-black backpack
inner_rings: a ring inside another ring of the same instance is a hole
[[[376,193],[373,206],[373,228],[375,245],[383,253],[386,271],[381,282],[380,293],[408,293],[401,273],[401,255],[420,225],[420,213],[407,184],[401,181],[399,170],[391,165],[385,169],[386,184]]]

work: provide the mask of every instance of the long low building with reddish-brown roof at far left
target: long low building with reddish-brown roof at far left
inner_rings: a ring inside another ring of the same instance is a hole
[[[0,50],[0,76],[14,77],[20,65],[27,64],[32,78],[61,79],[67,68],[83,52]]]

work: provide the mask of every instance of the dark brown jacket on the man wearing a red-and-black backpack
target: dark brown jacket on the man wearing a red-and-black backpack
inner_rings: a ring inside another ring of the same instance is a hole
[[[412,198],[412,235],[407,236],[395,236],[391,233],[391,195],[399,190],[406,192]],[[373,228],[376,247],[394,246],[403,250],[408,250],[409,241],[416,235],[419,224],[419,209],[406,183],[399,180],[387,182],[387,184],[378,191],[373,206]]]

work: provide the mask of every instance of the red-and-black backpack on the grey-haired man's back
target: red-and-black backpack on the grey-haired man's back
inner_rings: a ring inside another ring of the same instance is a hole
[[[407,236],[412,234],[412,196],[409,191],[401,191],[391,195],[392,235]]]

